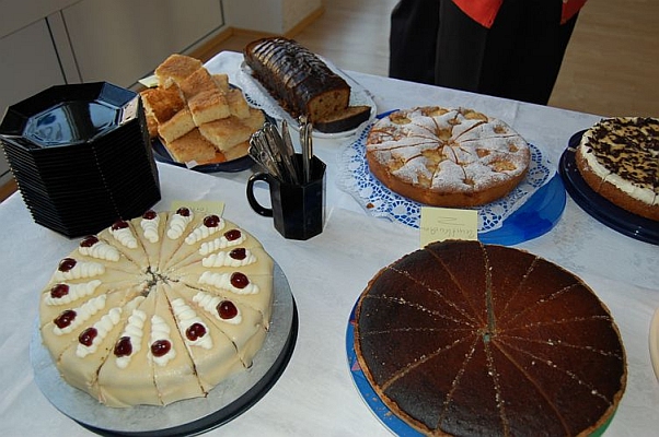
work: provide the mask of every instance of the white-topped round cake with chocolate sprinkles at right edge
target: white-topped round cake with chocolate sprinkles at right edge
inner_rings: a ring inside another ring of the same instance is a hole
[[[659,119],[603,119],[581,137],[576,161],[583,180],[600,196],[659,221]]]

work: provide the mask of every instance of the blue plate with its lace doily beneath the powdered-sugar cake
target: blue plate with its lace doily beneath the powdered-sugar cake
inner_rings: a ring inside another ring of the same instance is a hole
[[[424,205],[393,192],[369,169],[366,140],[372,126],[373,122],[366,126],[343,151],[339,187],[352,194],[368,213],[418,228]],[[502,199],[474,208],[478,211],[479,240],[521,243],[548,232],[560,217],[566,199],[560,178],[546,155],[533,144],[530,147],[531,164],[525,179]]]

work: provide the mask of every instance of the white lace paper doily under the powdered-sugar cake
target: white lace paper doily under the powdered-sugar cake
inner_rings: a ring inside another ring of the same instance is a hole
[[[342,176],[338,186],[350,193],[369,214],[418,228],[424,204],[393,192],[380,182],[369,169],[366,161],[366,140],[372,126],[373,122],[366,126],[356,140],[342,150],[339,156]],[[492,203],[472,208],[478,211],[478,233],[501,227],[504,221],[524,204],[556,172],[537,146],[529,145],[531,163],[524,180],[508,196]]]

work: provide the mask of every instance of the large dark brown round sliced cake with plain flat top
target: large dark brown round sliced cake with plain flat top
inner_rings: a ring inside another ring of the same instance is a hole
[[[429,435],[587,436],[626,386],[617,327],[588,285],[478,241],[431,244],[378,272],[355,350],[386,406]]]

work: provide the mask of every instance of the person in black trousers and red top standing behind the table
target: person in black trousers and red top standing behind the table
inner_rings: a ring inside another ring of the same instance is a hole
[[[401,0],[391,78],[546,105],[587,0]]]

